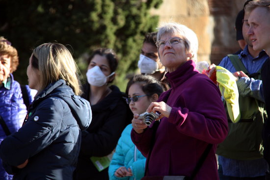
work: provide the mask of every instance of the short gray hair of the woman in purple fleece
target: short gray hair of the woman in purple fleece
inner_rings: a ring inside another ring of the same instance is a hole
[[[186,41],[187,51],[192,54],[191,59],[197,61],[198,52],[198,38],[195,32],[189,27],[178,23],[163,23],[158,27],[157,41],[161,39],[161,36],[165,34],[179,35],[183,40]]]

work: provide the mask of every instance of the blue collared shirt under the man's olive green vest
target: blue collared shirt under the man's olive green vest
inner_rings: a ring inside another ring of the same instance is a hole
[[[261,69],[266,59],[269,57],[265,51],[261,51],[257,57],[253,58],[249,54],[247,46],[245,46],[243,51],[238,54],[238,56],[243,62],[249,75],[257,73]],[[228,56],[221,60],[219,66],[226,68],[231,73],[236,72],[236,69]],[[240,95],[248,94],[257,100],[264,101],[262,97],[262,80],[241,77],[237,81],[237,86]],[[225,176],[232,177],[264,176],[267,170],[267,162],[264,158],[255,160],[237,160],[218,156],[218,164],[221,165],[223,174]]]

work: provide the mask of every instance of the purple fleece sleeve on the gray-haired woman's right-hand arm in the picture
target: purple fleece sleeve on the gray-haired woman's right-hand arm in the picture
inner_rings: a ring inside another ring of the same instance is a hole
[[[200,79],[178,97],[168,122],[183,134],[211,143],[221,143],[228,133],[228,120],[219,89]]]

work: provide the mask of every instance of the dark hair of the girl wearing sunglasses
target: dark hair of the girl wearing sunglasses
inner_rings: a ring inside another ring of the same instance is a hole
[[[135,75],[128,82],[126,89],[127,96],[129,94],[130,86],[134,83],[139,83],[142,91],[148,96],[153,94],[158,94],[158,96],[160,96],[164,91],[164,87],[162,86],[161,82],[155,77],[149,75]]]

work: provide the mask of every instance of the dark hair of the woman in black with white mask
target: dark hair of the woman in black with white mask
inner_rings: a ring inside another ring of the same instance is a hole
[[[101,56],[105,56],[107,58],[111,73],[116,71],[117,66],[118,66],[118,58],[115,52],[112,49],[108,49],[108,48],[99,48],[99,49],[94,50],[93,53],[90,55],[90,57],[87,59],[88,65],[90,64],[93,57],[97,54]],[[111,83],[113,80],[114,78],[108,83]]]

